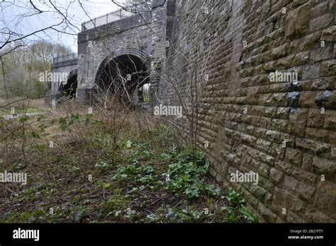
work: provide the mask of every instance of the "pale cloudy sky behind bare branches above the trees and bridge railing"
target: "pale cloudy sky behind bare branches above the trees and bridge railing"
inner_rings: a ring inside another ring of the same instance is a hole
[[[123,3],[125,0],[118,0]],[[90,18],[102,16],[106,13],[118,10],[118,6],[111,0],[33,0],[34,9],[29,0],[0,0],[0,30],[10,30],[26,35],[36,30],[56,25],[62,21],[62,14],[57,13],[54,5],[67,16],[72,25],[64,29],[65,25],[55,27],[57,30],[64,30],[66,33],[79,33],[81,23],[89,21]],[[80,6],[82,4],[83,8]],[[44,13],[38,13],[38,10]],[[85,13],[86,12],[86,13]],[[89,17],[90,16],[90,17]],[[42,33],[30,36],[26,42],[45,39],[52,42],[59,42],[77,52],[77,35],[60,33],[56,30],[46,30]],[[1,37],[0,42],[6,37]]]

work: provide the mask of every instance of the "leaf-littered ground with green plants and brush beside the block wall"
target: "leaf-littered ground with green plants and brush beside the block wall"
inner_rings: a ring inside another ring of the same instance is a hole
[[[20,131],[0,143],[0,172],[28,173],[27,185],[0,183],[0,222],[257,221],[240,194],[218,187],[204,154],[178,146],[168,127],[130,115],[113,144],[116,129],[99,114],[61,111],[13,121],[27,125],[24,148]]]

